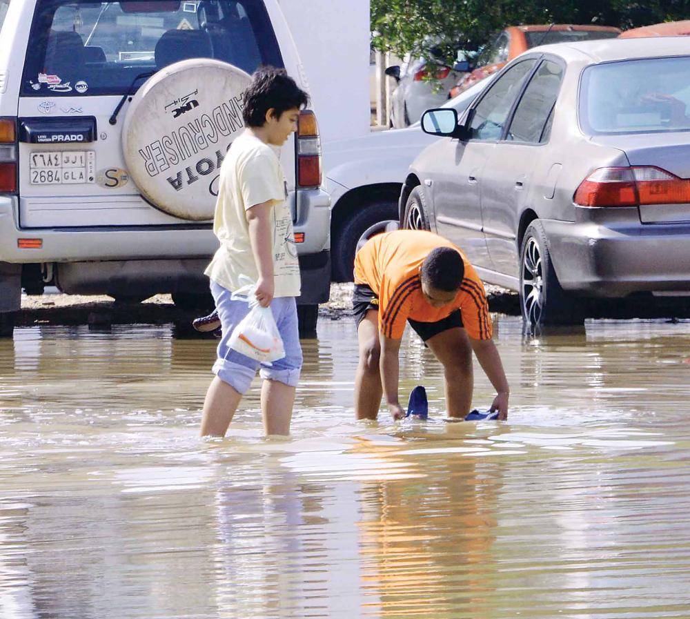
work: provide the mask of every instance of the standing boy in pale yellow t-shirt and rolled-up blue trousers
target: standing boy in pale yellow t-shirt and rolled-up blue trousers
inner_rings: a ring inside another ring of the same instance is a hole
[[[300,293],[287,184],[277,153],[297,130],[308,97],[284,70],[261,68],[244,93],[246,129],[233,141],[220,170],[213,232],[220,246],[206,275],[222,325],[201,420],[201,435],[224,436],[242,395],[261,367],[266,434],[288,434],[295,387],[302,369],[297,330]],[[247,315],[249,299],[233,299],[256,282],[256,299],[269,307],[285,347],[285,357],[264,365],[229,348],[233,328]]]

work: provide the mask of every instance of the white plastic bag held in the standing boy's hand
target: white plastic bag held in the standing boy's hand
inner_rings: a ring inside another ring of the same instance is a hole
[[[247,357],[262,363],[277,361],[285,356],[282,337],[275,324],[270,307],[262,307],[254,296],[255,286],[243,288],[233,294],[233,299],[249,303],[249,313],[230,334],[228,346]],[[240,293],[247,293],[244,297]]]

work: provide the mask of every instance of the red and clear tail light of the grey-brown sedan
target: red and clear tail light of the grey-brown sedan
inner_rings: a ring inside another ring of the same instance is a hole
[[[598,168],[573,199],[579,206],[642,206],[690,202],[690,179],[655,166]]]

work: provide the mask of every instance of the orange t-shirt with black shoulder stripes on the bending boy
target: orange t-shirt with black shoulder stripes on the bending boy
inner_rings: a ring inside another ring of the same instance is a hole
[[[422,293],[420,269],[431,250],[452,247],[462,256],[465,274],[455,299],[431,306]],[[366,284],[379,298],[379,329],[399,340],[408,318],[418,322],[443,320],[456,309],[475,340],[492,335],[484,284],[462,251],[443,237],[423,230],[396,230],[369,239],[355,256],[355,284]]]

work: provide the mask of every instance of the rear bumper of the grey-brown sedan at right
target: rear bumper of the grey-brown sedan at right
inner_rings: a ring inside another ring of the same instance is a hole
[[[540,222],[566,290],[596,297],[690,291],[690,224]]]

